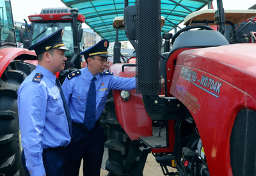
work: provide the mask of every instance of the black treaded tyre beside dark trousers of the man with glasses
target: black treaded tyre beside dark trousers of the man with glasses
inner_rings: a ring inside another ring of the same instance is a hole
[[[108,160],[106,161],[108,176],[135,175],[141,157],[141,144],[139,140],[131,141],[116,119],[111,91],[105,110],[107,119],[101,122],[108,128],[108,141],[105,143],[105,147],[108,148]]]

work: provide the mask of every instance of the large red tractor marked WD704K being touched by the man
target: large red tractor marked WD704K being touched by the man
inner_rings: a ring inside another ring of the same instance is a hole
[[[102,113],[109,176],[143,175],[150,152],[164,175],[256,175],[256,43],[230,44],[226,12],[219,0],[211,13],[219,31],[206,13],[188,17],[202,24],[180,29],[172,50],[161,54],[160,0],[125,7],[124,23],[114,26],[134,43],[136,64],[120,64],[114,55],[109,71],[135,76],[136,90],[109,91]],[[234,11],[230,20],[253,15]]]

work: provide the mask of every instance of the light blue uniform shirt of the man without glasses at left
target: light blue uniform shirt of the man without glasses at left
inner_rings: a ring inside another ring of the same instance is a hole
[[[40,82],[32,81],[36,73],[44,75]],[[66,146],[71,140],[63,101],[51,71],[37,65],[22,82],[18,110],[28,171],[31,175],[45,175],[43,149]]]

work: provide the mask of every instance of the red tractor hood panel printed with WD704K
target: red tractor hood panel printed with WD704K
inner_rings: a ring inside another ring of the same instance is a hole
[[[210,175],[232,175],[230,135],[236,115],[243,108],[256,110],[255,47],[186,50],[177,58],[170,93],[193,116]]]

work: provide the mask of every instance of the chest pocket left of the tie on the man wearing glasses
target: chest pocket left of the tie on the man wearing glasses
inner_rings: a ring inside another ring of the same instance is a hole
[[[72,103],[74,108],[79,111],[85,111],[86,94],[73,92]]]

